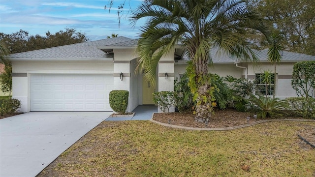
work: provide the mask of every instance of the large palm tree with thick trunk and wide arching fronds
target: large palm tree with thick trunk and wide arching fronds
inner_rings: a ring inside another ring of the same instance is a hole
[[[132,24],[139,19],[141,29],[137,51],[137,69],[154,83],[159,59],[175,46],[183,44],[190,58],[189,87],[196,100],[195,119],[211,117],[210,49],[244,60],[257,61],[246,41],[249,29],[266,35],[267,27],[245,0],[152,0],[133,12]]]

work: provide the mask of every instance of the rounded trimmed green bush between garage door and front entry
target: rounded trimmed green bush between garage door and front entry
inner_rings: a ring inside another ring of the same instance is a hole
[[[119,114],[125,114],[128,106],[129,91],[127,90],[112,90],[109,93],[109,105]]]

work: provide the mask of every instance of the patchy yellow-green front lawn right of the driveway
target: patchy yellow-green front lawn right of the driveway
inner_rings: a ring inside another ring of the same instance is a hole
[[[104,121],[38,177],[315,177],[315,148],[297,137],[315,122],[188,131]]]

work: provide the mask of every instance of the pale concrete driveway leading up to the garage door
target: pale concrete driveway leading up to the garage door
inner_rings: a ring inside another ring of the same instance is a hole
[[[111,112],[31,112],[0,119],[0,177],[34,177]]]

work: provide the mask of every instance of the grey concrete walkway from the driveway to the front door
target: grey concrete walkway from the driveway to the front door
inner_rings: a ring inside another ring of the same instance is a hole
[[[133,111],[133,117],[115,117],[106,118],[106,121],[121,121],[121,120],[150,120],[153,113],[158,112],[158,107],[153,105],[139,105]]]

